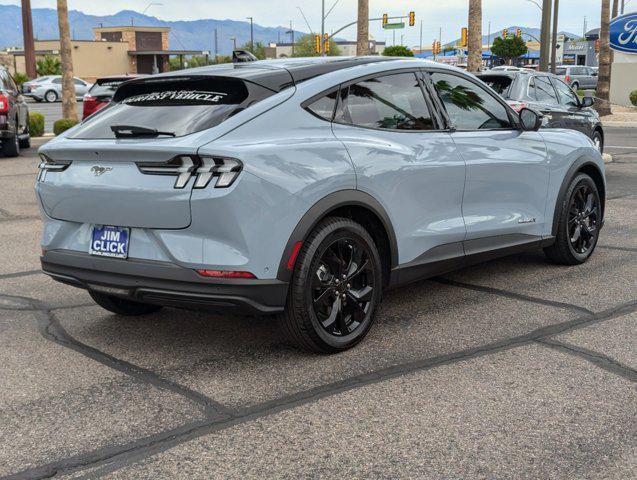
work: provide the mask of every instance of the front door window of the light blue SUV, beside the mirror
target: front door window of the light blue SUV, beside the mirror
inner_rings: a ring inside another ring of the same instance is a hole
[[[431,80],[458,130],[511,128],[506,107],[484,88],[447,73],[434,72]]]

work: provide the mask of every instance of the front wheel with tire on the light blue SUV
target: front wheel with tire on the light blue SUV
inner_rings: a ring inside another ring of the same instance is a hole
[[[601,226],[601,201],[591,177],[580,173],[571,180],[558,211],[555,243],[544,249],[554,263],[579,265],[595,251]]]

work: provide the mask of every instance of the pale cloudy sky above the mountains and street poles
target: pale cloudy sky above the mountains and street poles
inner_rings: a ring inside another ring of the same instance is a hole
[[[232,19],[245,20],[254,17],[254,22],[263,26],[289,26],[292,21],[297,30],[310,31],[300,10],[305,13],[312,31],[320,30],[322,0],[68,0],[69,9],[80,10],[92,15],[109,15],[120,10],[136,10],[162,20]],[[325,29],[333,32],[343,25],[356,20],[357,0],[324,0],[328,10],[335,1],[336,6],[326,19]],[[504,27],[519,25],[540,26],[541,10],[533,2],[541,5],[542,0],[482,0],[483,34]],[[637,0],[627,0],[626,11],[637,10]],[[161,5],[157,5],[160,3]],[[599,27],[601,0],[560,0],[559,30],[581,34],[586,18],[588,29]],[[631,4],[632,3],[632,4]],[[20,0],[0,0],[0,4],[19,5]],[[370,0],[370,18],[391,15],[407,15],[416,12],[416,26],[406,26],[396,30],[396,43],[408,47],[418,47],[420,43],[420,21],[422,20],[422,43],[427,47],[438,38],[442,29],[442,42],[452,41],[460,36],[460,29],[466,26],[469,0]],[[33,8],[55,8],[55,0],[31,0]],[[299,8],[297,8],[299,7]],[[380,22],[370,26],[370,34],[376,40],[392,42],[392,31],[383,30]],[[356,27],[350,27],[338,35],[354,39]]]

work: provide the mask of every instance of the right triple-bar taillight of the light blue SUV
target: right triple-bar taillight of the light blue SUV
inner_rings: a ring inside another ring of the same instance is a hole
[[[227,188],[235,181],[243,164],[234,158],[180,155],[167,162],[137,162],[137,168],[146,175],[175,175],[174,188],[184,188],[190,177],[195,177],[194,188],[205,188],[217,178],[214,188]]]

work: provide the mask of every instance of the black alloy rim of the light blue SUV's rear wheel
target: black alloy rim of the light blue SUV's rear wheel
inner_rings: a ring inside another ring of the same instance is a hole
[[[342,337],[369,313],[374,274],[365,245],[353,237],[335,240],[320,254],[312,279],[312,308],[323,329]]]

